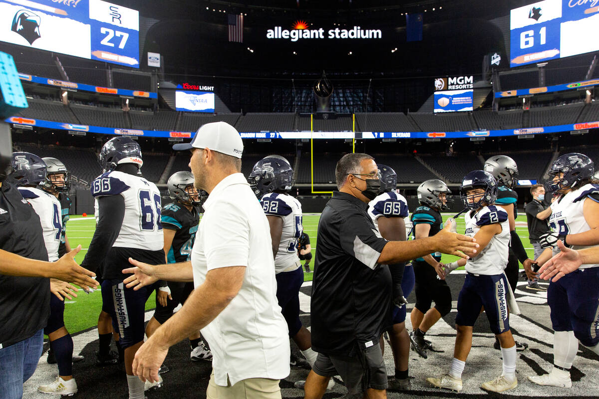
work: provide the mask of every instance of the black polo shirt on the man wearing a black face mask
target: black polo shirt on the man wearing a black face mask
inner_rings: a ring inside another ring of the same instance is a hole
[[[368,205],[335,191],[318,223],[311,297],[312,348],[325,355],[356,354],[378,345],[392,325],[391,273],[377,260],[388,242]]]

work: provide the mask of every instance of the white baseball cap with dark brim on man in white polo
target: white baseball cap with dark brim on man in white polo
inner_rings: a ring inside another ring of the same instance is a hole
[[[202,125],[190,143],[173,145],[173,150],[183,151],[192,148],[210,148],[212,151],[241,158],[243,141],[235,127],[226,122],[212,122]]]

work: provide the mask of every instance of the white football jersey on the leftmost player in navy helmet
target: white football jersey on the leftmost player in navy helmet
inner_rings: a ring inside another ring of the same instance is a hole
[[[44,234],[44,243],[48,251],[48,260],[58,260],[58,246],[62,233],[62,207],[58,198],[46,193],[40,188],[19,187],[23,198],[34,208],[40,217],[41,229]]]

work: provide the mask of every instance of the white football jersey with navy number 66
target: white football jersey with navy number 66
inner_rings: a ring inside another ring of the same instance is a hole
[[[125,217],[113,246],[149,251],[162,249],[162,206],[156,184],[141,176],[112,171],[93,181],[92,195],[96,198],[120,195],[125,199]]]

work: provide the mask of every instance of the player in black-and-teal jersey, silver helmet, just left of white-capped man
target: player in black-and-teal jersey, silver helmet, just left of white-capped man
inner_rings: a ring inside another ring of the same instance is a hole
[[[208,197],[205,191],[193,187],[191,172],[176,172],[167,181],[168,194],[173,202],[162,207],[162,231],[164,232],[164,252],[167,263],[186,262],[190,259],[195,233],[198,231],[199,207]],[[173,310],[187,299],[193,291],[193,282],[167,283],[156,293],[156,312],[146,327],[146,335],[152,336],[172,315]],[[199,331],[190,336],[191,360],[212,360],[212,354]],[[147,383],[146,383],[147,386]]]

